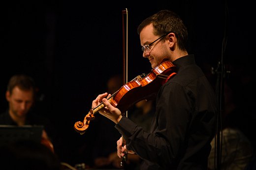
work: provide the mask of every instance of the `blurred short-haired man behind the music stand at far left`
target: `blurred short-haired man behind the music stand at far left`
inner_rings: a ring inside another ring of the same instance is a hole
[[[36,86],[33,79],[24,74],[13,75],[7,85],[5,93],[8,108],[0,114],[0,124],[5,125],[43,125],[41,143],[54,152],[54,127],[43,116],[32,113],[35,101]]]

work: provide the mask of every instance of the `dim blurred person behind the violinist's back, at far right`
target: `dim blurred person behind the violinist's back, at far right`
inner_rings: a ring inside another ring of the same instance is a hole
[[[221,170],[245,170],[251,161],[254,149],[250,137],[246,134],[250,131],[248,124],[251,122],[246,107],[241,106],[239,101],[235,102],[232,88],[228,83],[225,83],[224,87]],[[211,146],[208,170],[215,170],[217,168],[215,165],[217,161],[215,138],[212,140]]]

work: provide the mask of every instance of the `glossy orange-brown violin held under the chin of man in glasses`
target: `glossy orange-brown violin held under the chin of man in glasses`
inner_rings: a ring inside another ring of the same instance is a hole
[[[108,101],[122,113],[127,111],[136,102],[144,99],[156,97],[161,85],[176,74],[176,67],[167,59],[164,59],[159,66],[152,69],[148,74],[142,74],[123,85],[117,92],[108,98]],[[85,116],[84,121],[77,121],[74,129],[81,135],[85,133],[91,120],[95,119],[96,114],[102,109],[104,104],[101,102],[91,109]]]

